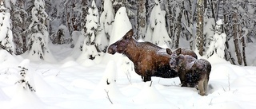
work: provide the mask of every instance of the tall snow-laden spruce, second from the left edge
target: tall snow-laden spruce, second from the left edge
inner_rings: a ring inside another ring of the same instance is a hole
[[[32,22],[29,29],[26,30],[28,34],[27,48],[29,50],[29,57],[33,60],[45,60],[45,56],[50,55],[48,48],[49,33],[46,27],[46,19],[48,14],[45,11],[45,2],[43,0],[35,0],[34,7],[31,10]]]

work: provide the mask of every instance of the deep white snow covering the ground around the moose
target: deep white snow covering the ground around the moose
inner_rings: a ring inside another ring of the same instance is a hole
[[[256,67],[240,67],[210,57],[208,95],[182,88],[178,78],[153,77],[144,83],[135,72],[120,72],[117,62],[85,66],[69,57],[72,49],[55,46],[58,63],[32,62],[0,50],[0,108],[177,108],[253,109],[256,107]],[[66,57],[67,56],[67,57]],[[23,62],[22,62],[23,61]],[[27,64],[24,89],[18,66]],[[22,65],[21,65],[22,64]],[[130,78],[130,79],[128,79]],[[16,84],[15,84],[16,83]]]

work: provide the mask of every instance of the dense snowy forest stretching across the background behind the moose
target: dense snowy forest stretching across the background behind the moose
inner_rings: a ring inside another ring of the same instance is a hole
[[[254,65],[254,0],[1,0],[1,48],[46,60],[49,44],[70,45],[94,60],[106,53],[120,7],[137,40],[213,53],[231,64]],[[159,33],[161,35],[159,35]],[[248,61],[250,60],[250,61]]]

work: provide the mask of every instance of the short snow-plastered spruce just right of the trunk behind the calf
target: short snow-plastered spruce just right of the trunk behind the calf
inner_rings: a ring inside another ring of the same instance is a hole
[[[210,57],[214,53],[218,57],[224,59],[225,57],[225,42],[226,42],[226,33],[222,33],[222,20],[218,20],[215,25],[214,37],[210,41],[210,46],[206,51],[206,56]]]

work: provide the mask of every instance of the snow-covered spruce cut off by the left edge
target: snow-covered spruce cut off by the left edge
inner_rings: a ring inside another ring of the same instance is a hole
[[[12,54],[15,53],[15,49],[10,25],[10,13],[6,13],[6,7],[4,3],[0,1],[0,47]]]

